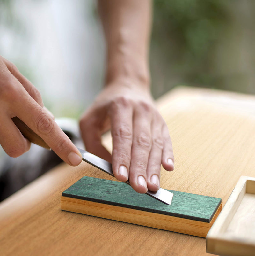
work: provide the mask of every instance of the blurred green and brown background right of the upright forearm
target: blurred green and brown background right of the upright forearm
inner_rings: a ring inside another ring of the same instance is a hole
[[[255,1],[154,2],[155,97],[177,84],[255,93]]]

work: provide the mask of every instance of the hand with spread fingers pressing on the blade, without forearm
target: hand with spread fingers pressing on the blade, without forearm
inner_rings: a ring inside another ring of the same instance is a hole
[[[139,193],[160,187],[160,165],[174,169],[168,128],[147,88],[112,82],[98,95],[80,120],[86,150],[112,162],[113,174]],[[101,144],[111,128],[112,156]]]

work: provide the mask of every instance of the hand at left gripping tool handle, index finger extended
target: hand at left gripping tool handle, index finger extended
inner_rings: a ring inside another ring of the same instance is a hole
[[[38,134],[66,163],[72,166],[80,164],[80,152],[44,107],[38,89],[14,64],[0,56],[0,144],[11,157],[18,157],[30,148],[30,142],[11,120],[15,116]]]

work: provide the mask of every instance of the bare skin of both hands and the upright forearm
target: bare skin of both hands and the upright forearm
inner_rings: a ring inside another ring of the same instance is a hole
[[[145,193],[157,191],[160,166],[174,168],[168,128],[150,94],[148,48],[151,1],[103,0],[98,10],[107,43],[105,87],[80,119],[86,150],[113,164],[120,181]],[[11,118],[19,117],[59,157],[72,166],[80,152],[44,107],[38,89],[17,67],[0,56],[0,144],[11,157],[29,150]],[[101,135],[111,129],[112,155],[102,146]]]

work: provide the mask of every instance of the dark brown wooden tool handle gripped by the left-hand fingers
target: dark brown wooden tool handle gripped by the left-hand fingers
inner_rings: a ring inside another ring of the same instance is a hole
[[[37,144],[43,148],[50,149],[48,144],[34,131],[32,131],[23,121],[21,121],[17,116],[12,118],[12,121],[18,127],[22,135],[28,139],[30,142]]]

